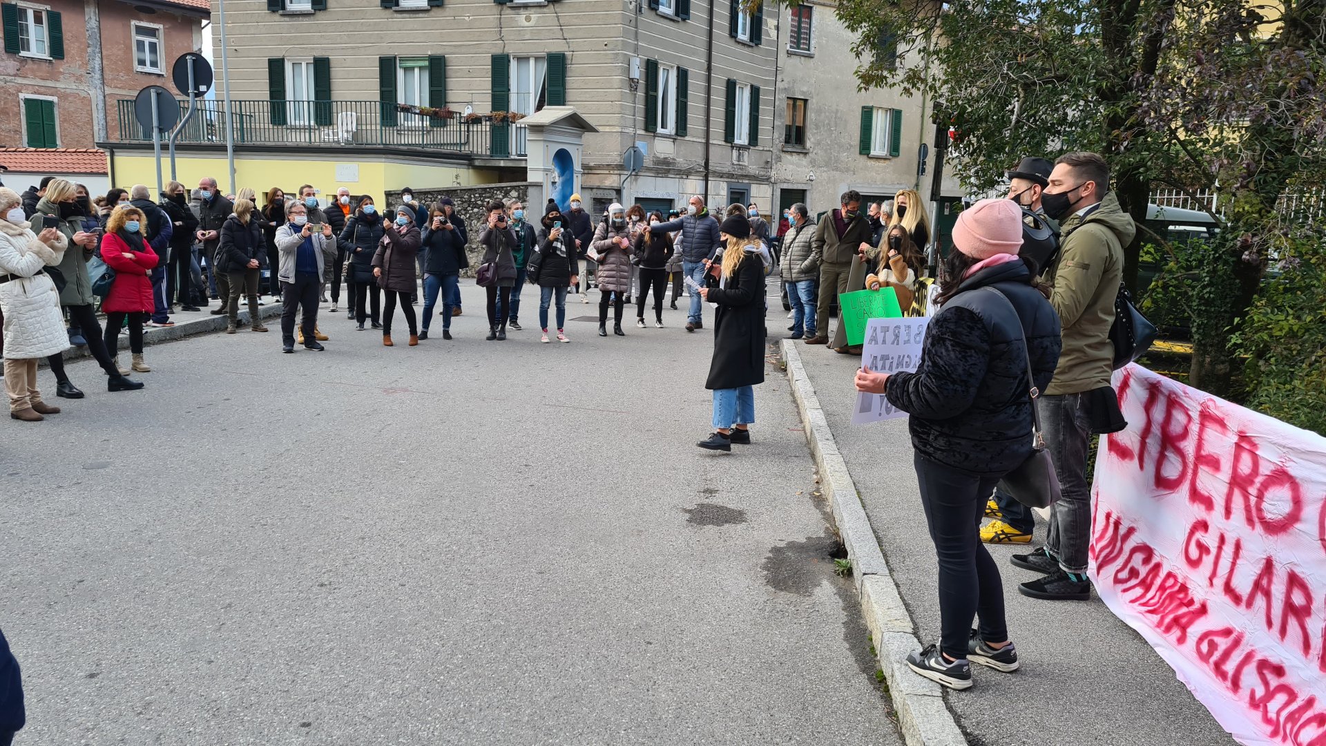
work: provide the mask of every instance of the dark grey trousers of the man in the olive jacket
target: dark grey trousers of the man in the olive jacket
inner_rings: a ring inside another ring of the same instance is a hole
[[[1065,572],[1085,573],[1091,543],[1091,491],[1086,457],[1091,429],[1083,409],[1085,394],[1042,396],[1037,402],[1045,445],[1059,477],[1062,498],[1050,508],[1046,551]]]

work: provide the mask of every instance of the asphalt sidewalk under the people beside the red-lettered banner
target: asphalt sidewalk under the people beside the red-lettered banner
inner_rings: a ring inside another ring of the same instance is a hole
[[[846,459],[916,636],[939,638],[936,560],[912,469],[907,421],[853,426],[851,378],[859,357],[796,342],[838,453]],[[1037,520],[1036,544],[1045,526]],[[1093,596],[1089,603],[1037,601],[1017,592],[1036,573],[991,547],[1004,576],[1008,625],[1021,670],[976,666],[976,686],[944,693],[971,743],[987,746],[1221,746],[1235,741],[1188,693],[1140,636]]]

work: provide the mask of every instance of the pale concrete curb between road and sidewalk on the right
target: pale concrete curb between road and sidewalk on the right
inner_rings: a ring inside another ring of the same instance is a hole
[[[838,535],[851,558],[861,611],[888,684],[903,739],[907,746],[965,746],[967,738],[944,704],[943,689],[907,668],[907,653],[920,649],[922,644],[796,345],[793,340],[782,341],[792,396],[819,471],[819,488],[829,499]]]

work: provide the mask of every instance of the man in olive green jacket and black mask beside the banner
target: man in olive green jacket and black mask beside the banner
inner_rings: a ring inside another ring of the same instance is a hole
[[[1123,247],[1132,242],[1136,226],[1110,192],[1110,166],[1095,153],[1059,157],[1041,204],[1063,231],[1059,255],[1045,275],[1063,349],[1054,378],[1036,402],[1062,499],[1050,511],[1045,547],[1013,555],[1013,564],[1046,573],[1024,583],[1018,588],[1024,596],[1085,601],[1091,596],[1086,577],[1091,540],[1087,442],[1093,433],[1123,429],[1119,400],[1110,385],[1110,327],[1123,277]]]

